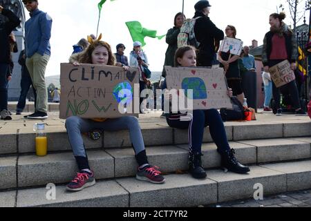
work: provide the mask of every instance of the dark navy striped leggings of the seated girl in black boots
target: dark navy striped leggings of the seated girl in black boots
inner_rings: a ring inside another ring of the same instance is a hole
[[[216,109],[194,110],[190,121],[167,117],[167,124],[173,128],[188,128],[190,153],[202,153],[202,140],[206,126],[209,126],[209,133],[217,146],[218,153],[230,150],[223,120]]]

